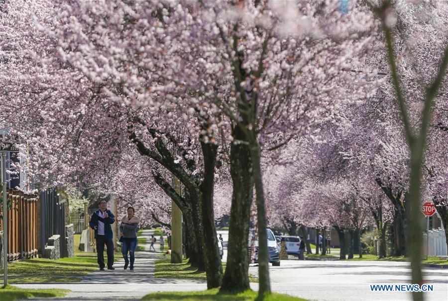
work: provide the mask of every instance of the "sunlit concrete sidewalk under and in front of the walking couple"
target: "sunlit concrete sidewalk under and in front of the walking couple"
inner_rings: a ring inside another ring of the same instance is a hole
[[[152,230],[144,230],[140,236],[148,238]],[[147,245],[149,248],[149,245]],[[145,249],[147,250],[148,248]],[[157,250],[157,247],[156,247]],[[135,252],[134,271],[123,270],[124,260],[115,256],[115,270],[96,270],[77,283],[14,284],[24,289],[66,289],[71,293],[60,299],[33,300],[140,300],[155,292],[201,291],[207,289],[206,281],[154,278],[156,259],[159,252]],[[120,259],[120,260],[118,260]]]

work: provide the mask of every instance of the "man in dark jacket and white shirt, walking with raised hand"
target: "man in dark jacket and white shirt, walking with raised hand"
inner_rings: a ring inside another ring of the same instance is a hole
[[[100,210],[94,212],[90,218],[89,225],[95,229],[95,238],[97,240],[97,258],[100,270],[104,271],[104,245],[108,248],[108,270],[115,270],[113,265],[113,233],[111,224],[115,222],[115,217],[110,210],[106,209],[107,202],[101,200],[98,207]]]

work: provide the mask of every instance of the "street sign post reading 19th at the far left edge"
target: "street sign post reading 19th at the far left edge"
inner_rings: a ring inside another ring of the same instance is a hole
[[[8,285],[8,206],[6,196],[6,153],[9,151],[18,150],[18,142],[0,141],[1,182],[3,184],[3,288]]]

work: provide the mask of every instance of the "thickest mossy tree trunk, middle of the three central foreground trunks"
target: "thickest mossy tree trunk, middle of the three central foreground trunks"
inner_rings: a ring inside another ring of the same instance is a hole
[[[233,129],[236,141],[245,136],[238,127]],[[253,179],[250,151],[247,144],[232,142],[230,146],[230,175],[232,177],[232,205],[228,227],[227,264],[221,291],[249,290],[249,221],[252,204]]]

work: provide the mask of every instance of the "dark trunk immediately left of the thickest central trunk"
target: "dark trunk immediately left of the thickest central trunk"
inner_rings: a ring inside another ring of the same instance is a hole
[[[213,211],[213,188],[218,146],[201,142],[201,147],[204,154],[204,180],[200,186],[202,192],[202,233],[206,258],[207,289],[213,289],[220,287],[223,281],[223,265],[218,249]]]

